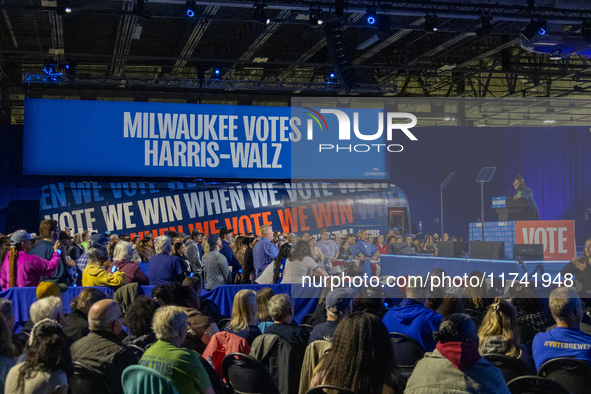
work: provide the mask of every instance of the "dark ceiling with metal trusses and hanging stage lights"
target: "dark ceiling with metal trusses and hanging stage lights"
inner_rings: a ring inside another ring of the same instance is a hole
[[[147,19],[134,13],[137,0],[4,0],[3,110],[20,123],[25,97],[286,105],[294,95],[554,97],[591,87],[586,56],[551,60],[519,45],[532,19],[556,35],[591,20],[580,1],[195,3],[188,18],[184,0],[151,0]],[[71,13],[61,12],[66,4]],[[253,20],[257,4],[269,24]],[[389,26],[368,27],[372,7]],[[322,26],[309,25],[310,8],[323,11]],[[432,15],[436,32],[425,29]],[[482,15],[490,29],[476,34]],[[327,40],[329,27],[343,45]],[[331,80],[336,53],[349,77]],[[64,75],[47,76],[44,63]]]

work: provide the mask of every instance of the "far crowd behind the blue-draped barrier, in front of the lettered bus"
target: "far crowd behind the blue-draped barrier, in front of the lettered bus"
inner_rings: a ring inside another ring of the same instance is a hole
[[[263,225],[259,234],[235,234],[222,228],[217,234],[193,230],[190,235],[168,232],[156,238],[99,234],[71,234],[57,221],[41,222],[39,236],[24,230],[0,235],[0,286],[36,286],[52,280],[67,286],[109,286],[127,283],[167,284],[193,275],[200,276],[206,290],[226,284],[300,283],[303,276],[340,274],[353,262],[359,268],[366,260],[379,260],[392,253],[392,245],[416,253],[437,253],[438,234],[424,240],[397,234],[374,236],[331,234],[321,229],[318,239],[304,233],[274,232]],[[444,234],[443,240],[448,239]],[[460,241],[462,241],[460,237]],[[292,256],[293,254],[293,256]],[[335,264],[336,263],[336,264]]]

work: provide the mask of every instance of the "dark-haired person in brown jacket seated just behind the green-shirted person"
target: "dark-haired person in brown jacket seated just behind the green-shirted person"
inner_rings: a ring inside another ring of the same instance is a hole
[[[187,314],[189,329],[187,339],[182,345],[202,354],[211,337],[220,330],[211,317],[204,316],[199,312],[201,299],[193,288],[173,283],[170,290],[172,305],[183,308]]]

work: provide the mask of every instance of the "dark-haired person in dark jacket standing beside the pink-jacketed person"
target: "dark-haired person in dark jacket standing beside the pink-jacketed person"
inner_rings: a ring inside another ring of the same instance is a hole
[[[44,220],[41,222],[41,224],[39,224],[39,236],[42,239],[37,243],[37,246],[31,250],[31,255],[41,257],[44,260],[51,260],[55,250],[61,250],[61,256],[57,270],[55,270],[51,275],[42,277],[41,280],[49,279],[58,283],[65,283],[68,286],[71,285],[72,277],[68,272],[68,268],[75,267],[76,262],[68,257],[67,249],[64,248],[64,246],[70,245],[70,237],[65,231],[59,231],[57,221],[53,219]],[[58,243],[57,247],[55,246],[56,243]]]

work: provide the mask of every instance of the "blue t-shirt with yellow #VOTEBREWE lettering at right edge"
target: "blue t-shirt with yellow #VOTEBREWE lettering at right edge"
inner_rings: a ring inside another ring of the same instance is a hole
[[[532,353],[536,369],[556,357],[573,357],[591,362],[591,335],[578,328],[555,327],[534,337]]]

